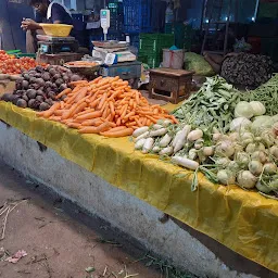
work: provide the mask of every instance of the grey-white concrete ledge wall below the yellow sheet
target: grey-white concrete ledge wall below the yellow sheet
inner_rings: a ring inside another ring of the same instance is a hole
[[[3,123],[0,123],[0,160],[200,277],[277,277],[186,225],[173,219],[163,224],[162,212],[53,150],[39,148],[37,141]]]

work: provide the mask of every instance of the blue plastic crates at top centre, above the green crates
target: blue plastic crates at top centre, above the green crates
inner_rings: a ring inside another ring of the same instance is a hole
[[[123,4],[126,33],[152,31],[152,0],[124,0]]]

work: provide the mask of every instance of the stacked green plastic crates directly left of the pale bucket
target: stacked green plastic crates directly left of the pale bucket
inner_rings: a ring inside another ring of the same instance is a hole
[[[163,49],[175,45],[173,34],[140,34],[138,60],[151,68],[159,67],[162,62]]]

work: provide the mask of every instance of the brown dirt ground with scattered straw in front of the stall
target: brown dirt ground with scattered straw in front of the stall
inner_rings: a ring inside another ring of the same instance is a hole
[[[0,237],[2,220],[10,210],[4,239],[0,241],[1,278],[162,277],[146,262],[135,262],[142,256],[142,250],[130,242],[125,244],[123,238],[117,241],[121,244],[115,242],[109,226],[88,228],[78,217],[65,213],[63,201],[51,201],[39,188],[0,163],[0,214],[9,207],[0,216]],[[15,264],[4,261],[8,253],[18,250],[27,255]]]

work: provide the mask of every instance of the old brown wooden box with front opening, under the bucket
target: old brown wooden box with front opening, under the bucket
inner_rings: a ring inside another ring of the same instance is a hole
[[[150,71],[149,98],[169,101],[174,104],[188,99],[193,72],[173,68]]]

